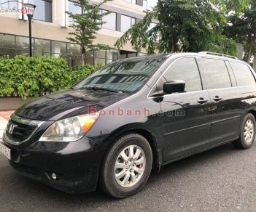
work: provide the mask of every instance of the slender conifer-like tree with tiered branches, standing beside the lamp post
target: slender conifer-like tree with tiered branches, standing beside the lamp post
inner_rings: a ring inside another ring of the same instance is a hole
[[[96,33],[101,29],[104,21],[102,18],[108,15],[109,12],[101,13],[101,5],[106,3],[104,0],[100,4],[91,3],[88,0],[74,1],[74,5],[81,8],[81,14],[74,14],[72,12],[66,12],[69,17],[74,21],[70,27],[74,28],[74,32],[69,33],[72,37],[67,38],[69,41],[78,44],[81,48],[81,64],[88,63],[86,52],[93,49],[112,49],[111,46],[104,44],[93,44],[96,38]]]

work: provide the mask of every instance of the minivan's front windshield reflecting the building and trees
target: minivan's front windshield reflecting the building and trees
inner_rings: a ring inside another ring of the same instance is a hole
[[[164,56],[151,56],[112,62],[77,83],[73,89],[134,93],[150,79],[165,60]]]

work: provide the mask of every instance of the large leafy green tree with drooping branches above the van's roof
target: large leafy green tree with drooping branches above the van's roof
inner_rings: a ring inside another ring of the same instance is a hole
[[[231,0],[159,0],[115,46],[120,49],[130,41],[136,52],[146,49],[148,54],[214,51],[236,55],[236,42],[222,35],[225,9],[233,6]],[[244,4],[236,7],[241,9]],[[159,23],[150,29],[154,18]]]

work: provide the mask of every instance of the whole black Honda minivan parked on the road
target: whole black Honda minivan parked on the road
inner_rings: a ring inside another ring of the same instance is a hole
[[[18,108],[0,151],[56,189],[100,187],[123,198],[144,187],[152,168],[227,142],[251,147],[255,116],[255,73],[236,57],[134,57]]]

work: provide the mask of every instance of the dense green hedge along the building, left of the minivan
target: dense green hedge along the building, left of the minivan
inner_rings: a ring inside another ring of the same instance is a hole
[[[69,68],[61,57],[18,55],[12,59],[0,59],[0,96],[41,97],[68,89],[95,70],[92,65]]]

